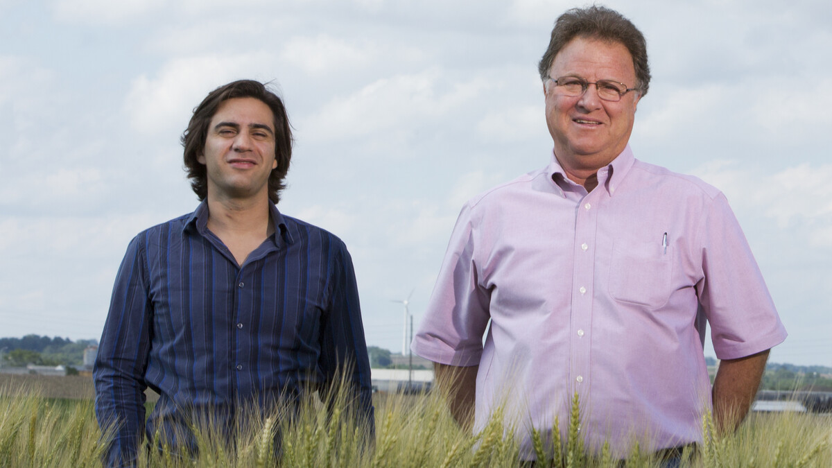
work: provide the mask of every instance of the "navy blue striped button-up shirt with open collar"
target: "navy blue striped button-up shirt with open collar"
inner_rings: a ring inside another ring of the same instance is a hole
[[[136,236],[116,276],[95,370],[96,414],[120,424],[108,463],[131,461],[182,408],[233,415],[337,383],[351,369],[372,423],[370,371],[352,260],[340,239],[270,204],[275,234],[238,266],[196,212]],[[145,423],[146,387],[159,393]],[[233,425],[233,421],[228,421]]]

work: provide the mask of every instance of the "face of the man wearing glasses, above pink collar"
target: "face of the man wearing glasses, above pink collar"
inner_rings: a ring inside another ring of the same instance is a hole
[[[590,37],[568,42],[549,68],[549,77],[572,76],[636,87],[636,71],[626,47]],[[627,92],[619,102],[602,101],[594,85],[580,97],[564,96],[553,82],[546,82],[543,92],[546,123],[555,155],[564,169],[594,173],[624,151],[632,132],[638,92]]]

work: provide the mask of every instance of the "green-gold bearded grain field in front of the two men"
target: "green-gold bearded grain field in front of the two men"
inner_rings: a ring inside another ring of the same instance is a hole
[[[100,466],[101,432],[92,401],[45,395],[37,386],[0,384],[0,467]],[[376,396],[375,405],[376,431],[369,444],[344,414],[346,406],[336,403],[330,417],[310,401],[291,426],[281,414],[246,414],[245,427],[231,441],[210,425],[194,427],[196,455],[182,456],[157,442],[157,450],[140,451],[139,466],[518,466],[518,445],[499,418],[472,436],[458,428],[436,394]],[[705,443],[682,466],[832,466],[830,415],[753,414],[724,438],[711,436],[711,425],[705,418]],[[589,456],[577,431],[567,432],[557,454],[536,445],[545,466],[660,466],[636,448],[624,465],[603,453]]]

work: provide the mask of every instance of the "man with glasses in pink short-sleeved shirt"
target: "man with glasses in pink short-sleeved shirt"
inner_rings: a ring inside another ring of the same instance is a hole
[[[539,72],[551,163],[463,207],[414,352],[463,425],[503,406],[525,458],[532,427],[551,444],[557,418],[564,440],[577,395],[590,451],[637,443],[675,460],[711,407],[719,430],[739,425],[785,329],[721,192],[633,157],[641,32],[604,7],[570,10]]]

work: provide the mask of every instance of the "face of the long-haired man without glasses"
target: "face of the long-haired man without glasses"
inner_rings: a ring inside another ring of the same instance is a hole
[[[206,165],[208,197],[268,198],[275,161],[275,119],[269,106],[254,97],[220,104],[208,126],[198,158]]]

